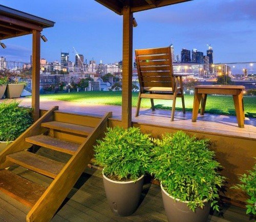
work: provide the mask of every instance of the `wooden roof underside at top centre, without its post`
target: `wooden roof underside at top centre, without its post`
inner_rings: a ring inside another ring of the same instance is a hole
[[[139,12],[148,9],[159,8],[168,5],[193,1],[193,0],[95,0],[110,10],[122,15],[122,8],[131,6],[132,12]]]

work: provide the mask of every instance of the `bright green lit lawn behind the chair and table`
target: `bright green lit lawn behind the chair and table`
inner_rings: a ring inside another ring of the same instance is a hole
[[[121,92],[75,92],[40,95],[41,98],[49,100],[63,100],[72,102],[97,103],[106,105],[121,105]],[[138,93],[133,93],[132,105],[137,106]],[[185,95],[186,110],[192,111],[194,95]],[[155,106],[158,109],[170,109],[172,100],[155,99]],[[141,107],[151,107],[150,99],[142,99]],[[176,100],[176,110],[181,110],[181,98]],[[256,97],[244,97],[244,109],[247,117],[256,117]],[[205,113],[236,115],[233,98],[231,96],[207,96]]]

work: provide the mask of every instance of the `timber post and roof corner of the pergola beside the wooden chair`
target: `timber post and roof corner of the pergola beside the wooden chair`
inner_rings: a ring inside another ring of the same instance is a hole
[[[132,126],[133,13],[192,0],[95,0],[123,15],[122,126]]]

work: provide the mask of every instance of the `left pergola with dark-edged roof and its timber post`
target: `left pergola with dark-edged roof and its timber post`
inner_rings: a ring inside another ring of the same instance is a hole
[[[40,36],[54,22],[26,12],[0,5],[0,40],[32,34],[32,108],[34,120],[39,119]]]

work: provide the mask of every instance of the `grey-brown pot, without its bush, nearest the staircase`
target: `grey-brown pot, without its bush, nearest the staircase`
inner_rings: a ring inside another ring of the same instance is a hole
[[[111,210],[119,216],[132,215],[138,208],[144,176],[136,182],[118,182],[103,174],[103,183]]]

